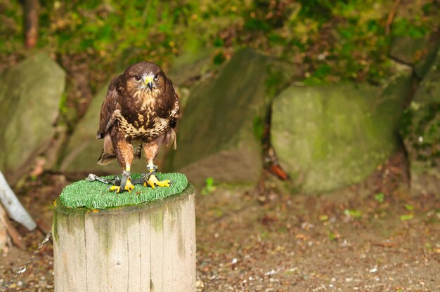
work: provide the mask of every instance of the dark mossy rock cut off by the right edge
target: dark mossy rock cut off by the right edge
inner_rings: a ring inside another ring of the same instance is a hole
[[[440,192],[440,50],[415,92],[401,128],[414,192]]]

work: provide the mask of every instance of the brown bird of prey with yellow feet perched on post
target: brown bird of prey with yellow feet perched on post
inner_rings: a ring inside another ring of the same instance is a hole
[[[98,164],[117,160],[122,167],[119,186],[110,190],[131,192],[130,168],[135,157],[141,156],[141,145],[147,160],[144,185],[169,187],[169,180],[158,180],[154,161],[162,144],[174,144],[174,127],[179,119],[179,96],[172,81],[153,62],[138,62],[110,81],[107,96],[101,107],[99,130],[96,138],[104,139]],[[136,152],[132,142],[139,140]]]

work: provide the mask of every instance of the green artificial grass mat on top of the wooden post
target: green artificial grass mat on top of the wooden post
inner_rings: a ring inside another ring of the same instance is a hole
[[[79,180],[71,185],[67,185],[60,195],[60,201],[68,208],[91,208],[102,209],[125,205],[134,205],[157,199],[164,199],[179,194],[188,185],[186,176],[181,173],[156,173],[158,180],[172,180],[171,187],[144,187],[141,184],[134,185],[134,190],[116,194],[110,192],[111,185],[99,181]],[[131,174],[131,180],[141,178],[140,173]],[[114,175],[106,176],[112,179]]]

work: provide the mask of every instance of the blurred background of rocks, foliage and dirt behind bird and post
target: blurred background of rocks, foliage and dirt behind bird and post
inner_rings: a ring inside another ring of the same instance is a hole
[[[399,248],[408,254],[393,258],[401,265],[386,284],[365,291],[436,291],[439,27],[438,0],[2,0],[0,170],[49,230],[67,183],[121,172],[96,164],[110,79],[156,62],[183,112],[177,150],[162,149],[157,164],[198,187],[201,291],[292,291],[339,277],[353,291]],[[368,232],[352,235],[359,226]],[[4,245],[0,285],[41,239],[15,227],[24,245]],[[358,272],[318,256],[342,248],[355,263],[371,246],[389,251],[382,262],[371,251]],[[15,289],[51,291],[51,256]],[[407,283],[399,269],[412,260],[417,280]]]

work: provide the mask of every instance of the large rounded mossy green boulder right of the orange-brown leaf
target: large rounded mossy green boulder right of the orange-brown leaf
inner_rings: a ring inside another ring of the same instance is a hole
[[[295,189],[337,190],[358,183],[398,145],[397,126],[412,84],[291,86],[273,102],[271,142]]]

